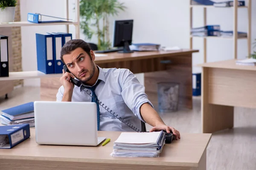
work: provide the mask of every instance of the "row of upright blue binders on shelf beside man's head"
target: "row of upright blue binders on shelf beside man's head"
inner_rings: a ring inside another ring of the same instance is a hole
[[[61,74],[63,62],[61,61],[61,48],[72,40],[69,33],[35,34],[38,71],[44,74]]]

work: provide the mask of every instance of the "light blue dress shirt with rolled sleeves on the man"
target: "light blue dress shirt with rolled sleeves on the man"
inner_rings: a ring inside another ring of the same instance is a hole
[[[98,66],[97,66],[98,67]],[[96,87],[95,93],[102,102],[100,108],[99,130],[104,131],[134,131],[130,126],[142,130],[141,121],[145,122],[140,114],[140,106],[152,103],[145,94],[145,87],[140,84],[136,76],[125,68],[99,68],[98,79],[102,80]],[[86,86],[86,85],[84,85]],[[87,91],[88,90],[88,91]],[[87,92],[86,92],[87,91]],[[57,101],[61,101],[64,87],[58,89]],[[87,88],[77,87],[73,90],[72,102],[91,102],[91,91]],[[104,104],[104,105],[103,105]],[[102,107],[103,105],[103,107]],[[105,108],[107,106],[107,108]],[[106,109],[109,110],[107,111]],[[154,108],[154,107],[153,107]],[[112,110],[111,113],[110,111]],[[84,111],[86,114],[86,111]],[[123,122],[116,118],[124,118]]]

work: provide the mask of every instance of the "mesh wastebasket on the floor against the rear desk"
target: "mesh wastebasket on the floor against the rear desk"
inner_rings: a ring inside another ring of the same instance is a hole
[[[157,83],[157,96],[160,112],[177,111],[179,103],[179,83]]]

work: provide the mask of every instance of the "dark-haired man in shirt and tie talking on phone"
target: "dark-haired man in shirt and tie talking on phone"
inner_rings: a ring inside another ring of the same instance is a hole
[[[90,45],[83,40],[66,42],[61,49],[61,60],[72,74],[63,70],[57,101],[96,102],[98,99],[99,130],[139,131],[143,121],[153,126],[150,132],[166,130],[170,133],[172,130],[176,139],[180,139],[179,131],[167,126],[154,110],[145,94],[145,87],[130,70],[100,68],[94,62],[95,55]],[[71,77],[82,85],[74,85]]]

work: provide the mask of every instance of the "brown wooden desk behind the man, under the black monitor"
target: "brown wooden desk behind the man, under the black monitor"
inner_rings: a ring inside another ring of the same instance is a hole
[[[102,68],[128,68],[134,74],[145,73],[145,91],[157,103],[157,82],[180,83],[180,106],[192,108],[192,53],[198,50],[149,51],[128,54],[106,53],[96,57]],[[59,78],[41,78],[41,100],[55,101]]]

